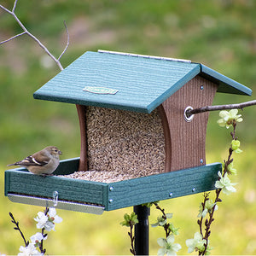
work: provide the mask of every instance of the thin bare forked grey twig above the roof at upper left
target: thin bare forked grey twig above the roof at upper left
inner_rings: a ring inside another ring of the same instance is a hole
[[[0,44],[7,43],[7,42],[9,42],[10,40],[12,40],[12,39],[14,39],[14,38],[18,38],[18,37],[20,37],[20,36],[22,36],[22,35],[24,35],[24,34],[27,34],[30,38],[32,38],[34,41],[36,41],[36,42],[39,44],[39,46],[40,46],[42,49],[44,49],[44,51],[49,55],[49,57],[55,61],[55,63],[58,65],[58,67],[59,67],[61,70],[63,70],[63,67],[62,67],[62,65],[61,65],[60,59],[61,59],[61,56],[66,52],[67,47],[68,47],[68,44],[69,44],[69,34],[68,34],[68,31],[67,31],[66,22],[64,21],[64,26],[65,26],[66,32],[67,32],[67,45],[66,45],[65,49],[62,51],[60,57],[59,57],[58,59],[56,59],[55,56],[52,55],[52,54],[49,52],[49,49],[47,49],[47,47],[44,46],[44,44],[42,44],[38,38],[36,38],[31,32],[28,32],[28,31],[27,31],[26,27],[22,24],[22,22],[20,21],[20,19],[15,15],[15,8],[16,8],[17,1],[18,1],[18,0],[15,0],[14,7],[13,7],[13,9],[12,9],[11,11],[10,11],[9,9],[6,9],[5,7],[3,7],[2,4],[0,4],[0,8],[3,9],[4,11],[6,11],[7,13],[9,13],[9,15],[12,15],[12,16],[15,18],[15,20],[17,21],[17,23],[18,23],[18,24],[20,25],[20,27],[22,28],[23,32],[20,33],[20,34],[15,35],[15,36],[12,37],[12,38],[9,38],[9,39],[7,39],[7,40],[4,40],[4,41],[0,42]]]

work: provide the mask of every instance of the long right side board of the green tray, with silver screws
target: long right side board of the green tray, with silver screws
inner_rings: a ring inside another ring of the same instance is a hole
[[[112,183],[106,211],[215,189],[220,163]]]

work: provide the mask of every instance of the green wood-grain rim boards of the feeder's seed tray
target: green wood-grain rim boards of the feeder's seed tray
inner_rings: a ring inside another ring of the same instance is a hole
[[[77,167],[78,159],[63,160],[57,172],[75,172]],[[221,169],[222,165],[216,163],[117,183],[97,183],[58,176],[40,177],[20,168],[5,171],[5,195],[14,193],[52,198],[53,192],[58,191],[59,200],[99,204],[106,211],[112,211],[215,189],[214,183]]]

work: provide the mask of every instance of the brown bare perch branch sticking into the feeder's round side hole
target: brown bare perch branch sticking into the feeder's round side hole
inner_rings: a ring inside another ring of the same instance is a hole
[[[204,113],[207,111],[217,111],[217,110],[224,110],[224,109],[243,109],[253,105],[256,105],[256,100],[250,101],[250,102],[242,102],[238,104],[216,105],[216,106],[206,106],[202,108],[188,109],[186,111],[186,114],[187,116],[191,116],[192,114],[195,114],[195,113]]]

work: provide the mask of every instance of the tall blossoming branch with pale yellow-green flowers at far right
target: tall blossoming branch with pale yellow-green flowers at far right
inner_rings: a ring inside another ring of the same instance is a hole
[[[233,166],[233,153],[241,153],[240,142],[236,137],[236,124],[241,122],[241,114],[237,114],[237,109],[231,109],[229,112],[223,110],[219,113],[221,119],[218,119],[218,125],[226,127],[229,129],[233,127],[233,131],[230,132],[232,141],[229,148],[229,154],[227,160],[224,160],[223,172],[218,172],[218,181],[215,183],[215,200],[212,202],[210,200],[210,193],[204,193],[204,200],[200,205],[200,210],[198,214],[197,224],[200,227],[200,232],[195,233],[194,239],[188,239],[186,241],[187,246],[189,247],[188,252],[192,253],[194,250],[199,252],[199,255],[207,255],[212,249],[209,247],[209,237],[211,235],[211,224],[214,221],[213,215],[216,210],[218,210],[218,202],[221,202],[220,194],[223,191],[224,194],[230,195],[232,192],[236,192],[236,189],[233,187],[236,183],[231,183],[228,175],[235,174],[236,169]],[[208,218],[207,217],[208,214]],[[205,219],[205,221],[204,221]],[[204,228],[203,228],[204,226]]]

